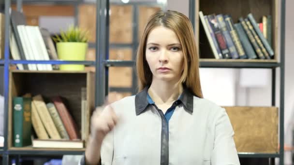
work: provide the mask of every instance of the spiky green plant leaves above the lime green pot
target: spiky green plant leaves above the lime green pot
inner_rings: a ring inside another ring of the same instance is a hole
[[[52,38],[57,42],[88,42],[88,31],[81,28],[70,26],[66,31],[60,30],[60,36]]]

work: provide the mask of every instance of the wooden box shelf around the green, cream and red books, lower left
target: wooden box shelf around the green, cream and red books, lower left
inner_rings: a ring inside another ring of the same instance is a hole
[[[86,111],[90,115],[94,108],[94,91],[95,77],[91,71],[39,71],[39,70],[10,70],[9,73],[9,107],[8,107],[8,150],[21,151],[22,153],[37,154],[38,151],[52,154],[59,149],[32,149],[31,147],[15,148],[13,146],[13,107],[12,100],[14,96],[23,96],[30,93],[32,96],[42,95],[45,103],[52,102],[51,97],[62,96],[64,104],[73,120],[77,124],[78,134],[81,137],[82,130],[82,105],[81,105],[81,88],[87,89],[88,107]],[[86,112],[85,111],[85,112]],[[89,122],[87,119],[86,121]],[[89,129],[89,128],[88,128]],[[33,130],[32,130],[33,132]],[[87,144],[87,139],[85,139]],[[50,150],[50,151],[49,151]],[[79,151],[83,150],[62,150],[62,151]],[[17,152],[15,152],[17,153]],[[61,152],[60,152],[61,154]]]

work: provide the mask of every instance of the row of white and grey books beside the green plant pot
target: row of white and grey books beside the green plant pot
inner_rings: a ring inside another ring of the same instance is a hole
[[[2,14],[1,17],[4,17]],[[14,60],[58,60],[54,42],[46,28],[26,25],[24,14],[11,10],[10,52]],[[19,70],[53,70],[57,65],[17,64]]]

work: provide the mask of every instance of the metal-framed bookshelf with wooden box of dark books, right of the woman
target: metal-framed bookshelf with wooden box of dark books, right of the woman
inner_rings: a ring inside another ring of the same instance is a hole
[[[279,4],[280,3],[280,4]],[[271,105],[276,104],[276,88],[279,88],[279,144],[284,144],[284,36],[285,36],[285,0],[190,0],[190,18],[195,23],[195,38],[199,47],[200,67],[202,68],[264,68],[272,71],[272,95]],[[280,7],[280,9],[279,9]],[[280,10],[280,17],[278,17]],[[214,59],[213,53],[207,41],[204,29],[201,28],[199,11],[208,14],[230,14],[233,22],[237,23],[239,17],[247,17],[252,13],[256,21],[260,21],[263,15],[272,16],[272,48],[274,58],[261,59]],[[278,51],[278,26],[280,25],[280,50]],[[280,85],[276,85],[276,72],[279,71]],[[276,127],[275,127],[276,128]],[[263,152],[238,152],[240,158],[279,158],[279,164],[283,165],[284,148],[278,148],[276,153]],[[271,162],[274,162],[273,159]]]

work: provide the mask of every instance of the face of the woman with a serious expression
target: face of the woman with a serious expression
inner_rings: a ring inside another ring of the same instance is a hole
[[[184,68],[184,55],[176,33],[162,26],[152,29],[146,43],[146,60],[153,81],[179,81]]]

